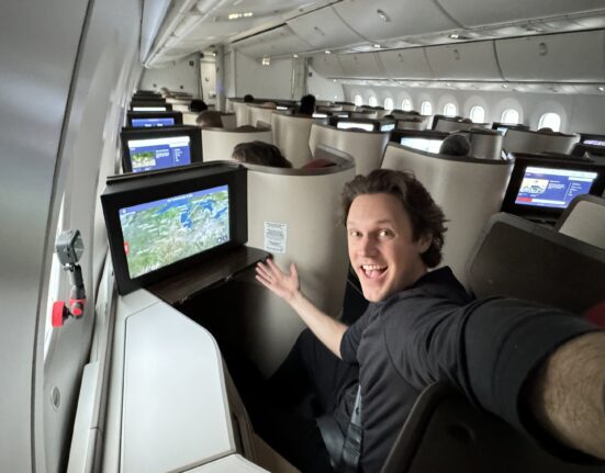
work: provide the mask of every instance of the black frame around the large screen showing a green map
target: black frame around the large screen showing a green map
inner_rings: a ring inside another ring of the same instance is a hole
[[[108,178],[101,195],[117,292],[128,294],[173,275],[214,255],[243,245],[248,239],[247,176],[237,164],[209,162],[155,172]],[[124,251],[120,210],[189,192],[227,185],[229,193],[229,240],[154,271],[131,278]]]

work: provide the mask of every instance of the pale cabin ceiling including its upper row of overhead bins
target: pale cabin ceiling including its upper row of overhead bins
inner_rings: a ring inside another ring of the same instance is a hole
[[[166,67],[216,46],[343,57],[603,27],[603,0],[144,0],[141,60]]]

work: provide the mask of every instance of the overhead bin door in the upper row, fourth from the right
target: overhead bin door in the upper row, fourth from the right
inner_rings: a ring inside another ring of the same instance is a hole
[[[233,44],[242,54],[253,57],[271,57],[311,49],[311,45],[302,40],[288,25],[279,26]]]

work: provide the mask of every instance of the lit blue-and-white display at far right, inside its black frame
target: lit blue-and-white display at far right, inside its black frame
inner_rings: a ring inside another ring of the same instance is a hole
[[[527,167],[515,203],[567,209],[574,196],[591,191],[596,177],[592,171]]]

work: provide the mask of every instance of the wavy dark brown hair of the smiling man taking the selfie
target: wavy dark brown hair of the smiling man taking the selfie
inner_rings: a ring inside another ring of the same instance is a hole
[[[357,196],[382,193],[394,195],[407,212],[414,241],[423,235],[432,236],[430,246],[422,255],[422,259],[428,268],[439,264],[444,233],[447,230],[444,225],[446,218],[425,187],[410,171],[376,169],[368,176],[358,174],[347,182],[340,194],[343,224],[347,224],[349,209]]]

